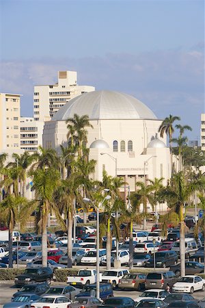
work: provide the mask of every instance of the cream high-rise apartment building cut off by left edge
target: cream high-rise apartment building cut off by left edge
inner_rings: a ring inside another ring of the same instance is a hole
[[[20,94],[0,93],[0,151],[20,149]]]

